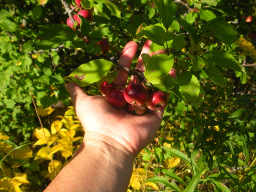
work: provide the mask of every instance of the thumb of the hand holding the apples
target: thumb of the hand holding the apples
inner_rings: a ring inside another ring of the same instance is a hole
[[[79,104],[79,102],[81,101],[81,99],[83,99],[84,97],[88,96],[84,90],[82,90],[82,88],[76,84],[76,83],[67,83],[65,88],[67,89],[67,91],[70,94],[70,98],[73,101],[74,104],[74,108],[76,110],[76,106]]]

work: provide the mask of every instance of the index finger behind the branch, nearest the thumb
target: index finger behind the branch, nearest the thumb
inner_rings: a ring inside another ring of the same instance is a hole
[[[125,45],[122,55],[119,58],[118,64],[124,67],[131,67],[133,58],[137,52],[138,45],[135,41],[130,41]],[[114,82],[117,85],[125,86],[127,82],[128,74],[123,70],[119,70]]]

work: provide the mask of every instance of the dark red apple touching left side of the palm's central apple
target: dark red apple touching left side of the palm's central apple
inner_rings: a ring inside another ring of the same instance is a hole
[[[124,98],[124,90],[119,89],[117,86],[112,86],[108,88],[106,98],[110,105],[115,108],[120,108],[126,103]]]

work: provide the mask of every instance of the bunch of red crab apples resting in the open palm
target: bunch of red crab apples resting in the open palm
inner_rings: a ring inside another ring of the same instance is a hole
[[[153,111],[163,110],[168,102],[165,92],[154,90],[148,94],[148,90],[140,83],[121,87],[114,82],[109,84],[108,81],[104,81],[99,89],[113,107],[125,106],[129,112],[136,115],[142,115],[147,108]]]

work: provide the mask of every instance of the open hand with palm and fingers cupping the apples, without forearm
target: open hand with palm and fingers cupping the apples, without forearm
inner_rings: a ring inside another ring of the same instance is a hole
[[[148,53],[150,44],[151,41],[145,42],[141,54]],[[119,64],[131,67],[136,51],[137,43],[128,42]],[[136,68],[143,68],[141,56]],[[127,73],[120,70],[114,82],[117,85],[125,85],[127,77]],[[148,110],[141,116],[134,115],[125,107],[113,108],[103,96],[88,96],[77,84],[69,83],[66,88],[84,128],[84,142],[87,146],[95,143],[96,140],[107,143],[113,140],[116,148],[122,148],[125,153],[135,158],[154,139],[162,121],[163,111]]]

